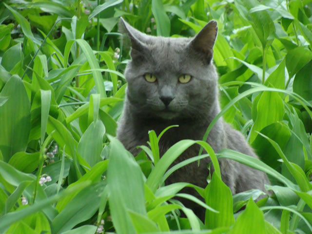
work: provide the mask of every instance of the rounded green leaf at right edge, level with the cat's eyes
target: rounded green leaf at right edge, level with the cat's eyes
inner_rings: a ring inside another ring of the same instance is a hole
[[[290,50],[286,55],[286,67],[289,77],[292,78],[301,68],[312,59],[312,52],[304,46]]]

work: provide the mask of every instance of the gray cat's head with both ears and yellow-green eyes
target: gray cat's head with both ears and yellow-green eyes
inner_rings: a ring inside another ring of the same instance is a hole
[[[218,107],[217,74],[212,62],[217,35],[214,20],[194,38],[148,36],[122,18],[119,28],[131,39],[125,70],[127,101],[146,117],[185,119]]]

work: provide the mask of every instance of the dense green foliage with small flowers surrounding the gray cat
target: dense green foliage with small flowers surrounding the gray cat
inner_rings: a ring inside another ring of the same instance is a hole
[[[215,155],[193,140],[159,158],[153,131],[138,156],[123,148],[114,137],[130,58],[117,32],[121,16],[171,37],[218,22],[223,110],[205,137],[223,116],[263,162],[230,150]],[[312,0],[4,0],[0,123],[1,233],[311,233]],[[167,170],[193,144],[209,155]],[[216,169],[207,188],[164,186],[174,170],[207,156]],[[273,195],[257,203],[257,190],[232,196],[216,157],[266,172]],[[180,193],[184,187],[206,204]],[[205,223],[174,196],[205,207]]]

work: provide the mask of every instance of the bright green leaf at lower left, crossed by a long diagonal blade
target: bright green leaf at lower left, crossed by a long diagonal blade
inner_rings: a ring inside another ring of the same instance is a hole
[[[96,183],[100,180],[102,174],[106,171],[108,166],[108,160],[101,161],[97,163],[89,172],[84,174],[80,179],[78,179],[76,182],[70,184],[67,189],[70,189],[72,187],[78,186],[79,184],[82,184],[86,181],[90,181],[91,183]],[[77,190],[70,195],[64,196],[62,199],[59,200],[58,204],[56,205],[56,209],[61,212],[66,205],[78,194],[80,190]]]

